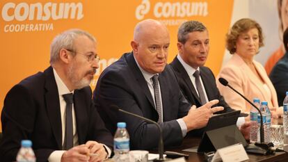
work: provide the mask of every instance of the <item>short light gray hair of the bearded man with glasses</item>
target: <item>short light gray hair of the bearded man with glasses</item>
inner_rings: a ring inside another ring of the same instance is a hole
[[[93,42],[96,42],[93,35],[86,31],[82,31],[81,29],[70,29],[57,35],[51,42],[50,46],[50,65],[53,65],[53,63],[58,60],[59,52],[61,49],[70,49],[75,51],[76,49],[74,49],[74,40],[81,35],[85,35]],[[75,55],[74,52],[72,52],[72,54]]]

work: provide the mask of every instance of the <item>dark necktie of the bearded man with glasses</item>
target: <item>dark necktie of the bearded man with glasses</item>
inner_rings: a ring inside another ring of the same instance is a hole
[[[73,94],[65,94],[63,98],[66,102],[66,124],[65,124],[65,138],[63,149],[68,150],[73,147],[73,120],[72,120],[72,104]]]

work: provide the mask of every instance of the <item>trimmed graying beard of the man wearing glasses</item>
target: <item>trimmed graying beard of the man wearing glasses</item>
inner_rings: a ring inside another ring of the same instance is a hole
[[[96,70],[89,70],[88,72],[86,72],[86,74],[84,76],[86,76],[87,74],[95,74]],[[76,68],[74,66],[74,64],[72,64],[67,72],[67,76],[68,79],[70,79],[71,83],[73,84],[73,86],[75,87],[75,89],[81,89],[84,88],[86,86],[90,85],[90,82],[93,78],[91,79],[87,79],[86,77],[82,77],[79,78],[79,75],[77,76],[76,74]]]

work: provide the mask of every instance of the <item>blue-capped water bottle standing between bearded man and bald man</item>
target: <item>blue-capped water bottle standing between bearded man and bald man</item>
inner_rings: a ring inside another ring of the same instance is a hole
[[[114,136],[114,161],[129,162],[129,134],[125,122],[117,123],[117,131]]]

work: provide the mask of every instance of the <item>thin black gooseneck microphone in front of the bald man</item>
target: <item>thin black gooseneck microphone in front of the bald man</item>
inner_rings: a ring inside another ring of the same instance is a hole
[[[130,113],[128,111],[122,110],[121,108],[119,108],[116,105],[111,105],[110,107],[113,108],[114,111],[121,111],[122,113],[126,113],[126,114],[132,115],[132,116],[134,116],[136,118],[140,118],[141,120],[145,120],[146,122],[155,124],[157,126],[157,128],[159,129],[160,135],[159,135],[159,143],[158,143],[159,159],[156,159],[154,161],[164,161],[164,158],[163,158],[164,145],[163,145],[162,129],[161,129],[160,125],[157,122],[154,122],[153,120],[144,118],[141,115],[137,115],[135,113]]]

